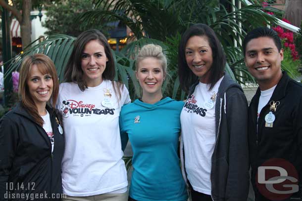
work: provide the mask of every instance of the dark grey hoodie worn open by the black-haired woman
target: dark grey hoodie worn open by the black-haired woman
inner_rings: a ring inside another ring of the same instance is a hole
[[[194,92],[196,82],[189,91]],[[246,201],[249,194],[248,101],[241,88],[224,75],[215,102],[216,141],[211,157],[213,201]],[[181,139],[182,173],[186,182],[185,156]],[[210,156],[209,156],[210,157]]]

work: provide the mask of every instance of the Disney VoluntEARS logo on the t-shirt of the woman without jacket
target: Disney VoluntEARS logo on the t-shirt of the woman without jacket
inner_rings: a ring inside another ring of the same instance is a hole
[[[113,108],[98,109],[94,104],[84,103],[83,101],[67,100],[62,101],[61,110],[63,117],[68,118],[69,115],[74,116],[91,116],[91,115],[114,115]]]

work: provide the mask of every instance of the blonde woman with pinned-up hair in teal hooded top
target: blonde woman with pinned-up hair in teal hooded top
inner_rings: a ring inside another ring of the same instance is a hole
[[[122,149],[129,137],[133,150],[129,201],[188,199],[177,155],[184,103],[163,97],[161,86],[166,68],[161,47],[145,45],[136,63],[136,77],[143,96],[125,105],[120,113]]]

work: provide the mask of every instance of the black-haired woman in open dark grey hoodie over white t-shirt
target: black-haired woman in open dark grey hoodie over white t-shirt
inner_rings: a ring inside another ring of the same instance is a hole
[[[248,103],[224,72],[214,31],[191,26],[179,44],[179,80],[188,95],[181,112],[183,176],[193,201],[245,201],[249,191]]]

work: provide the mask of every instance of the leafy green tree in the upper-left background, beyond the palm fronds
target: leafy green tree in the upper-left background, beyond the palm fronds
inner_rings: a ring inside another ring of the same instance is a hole
[[[47,35],[65,34],[77,37],[81,32],[87,29],[99,29],[105,35],[107,34],[108,26],[103,21],[86,23],[86,26],[80,26],[81,21],[78,20],[83,12],[95,9],[95,4],[92,0],[62,0],[51,2],[45,6],[47,11],[47,20],[43,23],[49,31]]]

